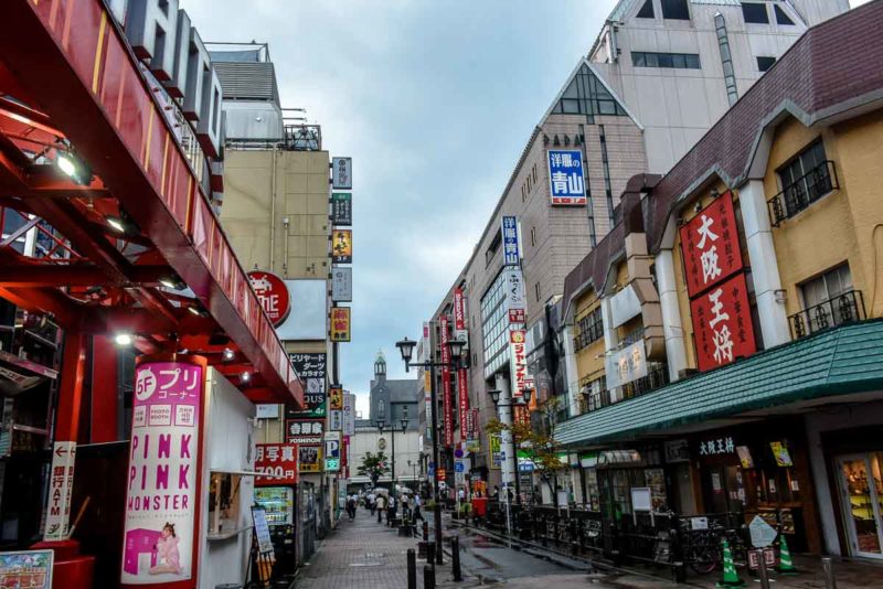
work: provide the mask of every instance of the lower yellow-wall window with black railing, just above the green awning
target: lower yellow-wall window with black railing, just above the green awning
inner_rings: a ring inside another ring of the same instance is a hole
[[[795,338],[864,319],[861,291],[853,290],[849,264],[799,286],[804,310],[789,317]]]

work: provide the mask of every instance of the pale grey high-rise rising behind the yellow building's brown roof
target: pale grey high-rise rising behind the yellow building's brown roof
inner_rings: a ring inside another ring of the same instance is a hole
[[[848,0],[619,0],[588,58],[664,173],[809,26]]]

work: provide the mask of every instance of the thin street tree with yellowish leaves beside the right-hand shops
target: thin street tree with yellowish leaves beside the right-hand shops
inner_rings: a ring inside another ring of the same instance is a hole
[[[555,427],[557,426],[557,409],[561,404],[558,397],[551,397],[540,404],[539,410],[534,411],[534,417],[539,417],[541,425],[534,427],[533,424],[513,424],[508,426],[499,419],[491,419],[485,429],[490,435],[499,436],[502,431],[511,431],[518,445],[515,452],[521,450],[528,454],[534,468],[540,473],[540,478],[549,486],[549,491],[557,506],[557,478],[567,465],[564,464],[558,456],[561,445],[555,441]],[[539,415],[536,415],[539,414]],[[518,475],[518,474],[515,474]]]

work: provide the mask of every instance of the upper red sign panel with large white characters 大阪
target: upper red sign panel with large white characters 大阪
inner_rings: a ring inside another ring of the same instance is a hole
[[[742,250],[731,192],[727,191],[703,208],[680,232],[687,292],[690,297],[695,297],[742,269]]]

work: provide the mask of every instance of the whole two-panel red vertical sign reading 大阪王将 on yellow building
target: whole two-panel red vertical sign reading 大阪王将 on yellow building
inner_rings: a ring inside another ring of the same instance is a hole
[[[755,353],[733,194],[727,191],[703,208],[681,227],[680,238],[699,370]]]

